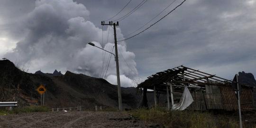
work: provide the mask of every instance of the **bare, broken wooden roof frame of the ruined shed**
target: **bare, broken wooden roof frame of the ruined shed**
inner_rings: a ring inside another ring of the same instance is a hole
[[[165,86],[159,85],[188,85],[193,87],[205,87],[205,85],[231,86],[231,80],[216,76],[215,74],[204,73],[183,65],[158,72],[147,77],[148,79],[137,85],[137,88],[165,90]]]

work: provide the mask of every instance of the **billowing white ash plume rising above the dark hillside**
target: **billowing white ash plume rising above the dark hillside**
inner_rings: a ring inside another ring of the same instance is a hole
[[[109,54],[105,53],[103,62],[103,51],[87,43],[93,42],[110,51],[113,46],[113,29],[110,27],[103,31],[102,44],[102,29],[89,21],[90,12],[85,6],[72,0],[37,0],[35,8],[19,23],[23,27],[18,28],[26,30],[26,35],[18,41],[13,51],[4,56],[18,65],[25,65],[32,73],[39,69],[49,73],[58,69],[61,72],[69,70],[93,77],[104,76],[101,75],[102,63],[106,69]],[[123,36],[119,28],[117,36]],[[120,42],[118,48],[126,60],[119,53],[121,83],[124,83],[121,85],[133,86],[131,79],[138,75],[135,54],[127,51],[125,42]],[[112,75],[116,75],[113,56],[106,78]]]

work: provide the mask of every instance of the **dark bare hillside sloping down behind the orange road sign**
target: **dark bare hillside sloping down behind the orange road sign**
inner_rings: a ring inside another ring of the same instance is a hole
[[[58,72],[60,73],[60,72]],[[49,73],[48,73],[49,74]],[[118,106],[117,86],[104,79],[67,71],[64,75],[32,74],[19,70],[9,60],[0,61],[0,101],[18,101],[19,106],[40,102],[36,89],[45,84],[45,104],[49,107],[95,105]],[[124,108],[135,108],[140,100],[136,88],[121,88]]]

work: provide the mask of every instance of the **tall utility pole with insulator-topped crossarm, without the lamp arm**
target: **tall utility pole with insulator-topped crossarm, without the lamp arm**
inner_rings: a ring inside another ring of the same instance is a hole
[[[120,85],[120,74],[119,74],[119,61],[118,61],[118,47],[117,47],[117,33],[116,33],[116,26],[119,26],[119,23],[117,21],[116,23],[113,23],[112,21],[109,22],[109,24],[105,24],[104,21],[101,21],[101,25],[110,25],[114,27],[114,37],[115,37],[115,52],[116,52],[116,67],[117,67],[117,82],[118,82],[118,104],[119,104],[119,110],[123,110],[122,107],[122,95],[121,95],[121,85]]]

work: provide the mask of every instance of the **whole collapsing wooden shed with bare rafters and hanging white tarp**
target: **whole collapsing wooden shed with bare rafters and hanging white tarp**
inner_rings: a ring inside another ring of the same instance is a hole
[[[232,80],[181,65],[147,77],[137,88],[143,92],[142,107],[148,107],[147,94],[152,93],[152,106],[159,106],[162,100],[168,110],[238,110],[236,89],[231,83]],[[254,87],[239,84],[241,109],[254,109]]]

